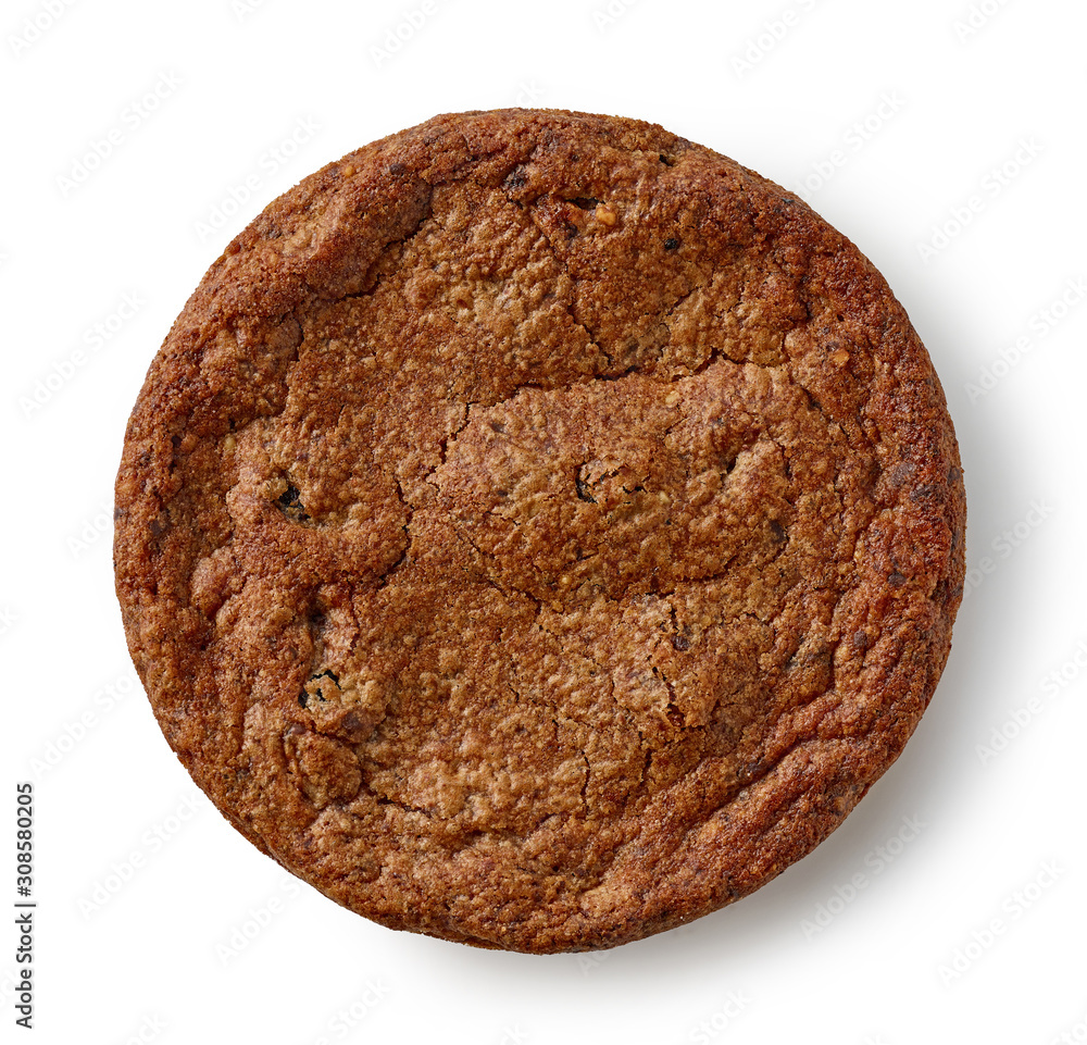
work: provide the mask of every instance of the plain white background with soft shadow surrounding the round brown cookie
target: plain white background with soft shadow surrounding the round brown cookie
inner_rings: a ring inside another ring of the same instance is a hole
[[[1085,29],[1077,0],[7,0],[0,835],[33,781],[39,906],[30,1034],[0,932],[4,1040],[1087,1040]],[[229,238],[357,146],[516,104],[799,188],[910,312],[969,495],[898,763],[760,893],[595,958],[393,933],[287,878],[193,794],[112,586],[128,411]]]

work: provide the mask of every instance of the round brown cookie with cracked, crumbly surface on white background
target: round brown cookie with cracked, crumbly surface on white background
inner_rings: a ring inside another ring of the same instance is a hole
[[[396,929],[580,950],[840,823],[932,697],[964,523],[925,349],[801,201],[650,124],[464,113],[208,272],[116,584],[254,845]]]

